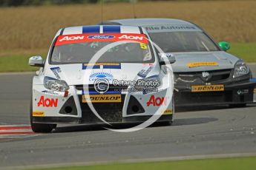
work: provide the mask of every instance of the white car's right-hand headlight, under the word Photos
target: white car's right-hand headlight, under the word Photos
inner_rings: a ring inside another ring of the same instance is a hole
[[[158,75],[153,75],[148,78],[137,80],[135,89],[156,89],[161,85],[161,81]]]

